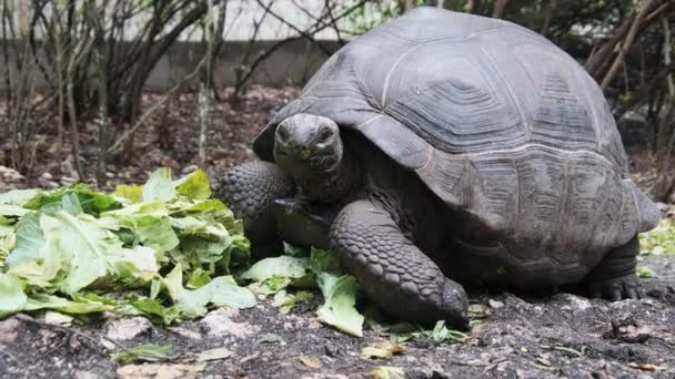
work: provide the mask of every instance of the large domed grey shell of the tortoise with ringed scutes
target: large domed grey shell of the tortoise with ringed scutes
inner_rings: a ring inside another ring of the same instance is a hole
[[[581,277],[659,219],[595,81],[507,21],[416,8],[355,39],[261,132],[261,158],[296,113],[361,132],[525,270]]]

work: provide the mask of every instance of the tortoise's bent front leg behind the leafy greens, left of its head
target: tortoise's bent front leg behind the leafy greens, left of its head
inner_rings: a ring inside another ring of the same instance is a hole
[[[244,234],[255,256],[279,255],[283,245],[276,234],[273,203],[292,197],[293,180],[279,166],[252,161],[234,166],[218,178],[214,196],[223,201],[236,218],[243,219]]]

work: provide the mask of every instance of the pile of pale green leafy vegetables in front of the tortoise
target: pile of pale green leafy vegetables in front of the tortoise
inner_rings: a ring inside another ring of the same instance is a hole
[[[0,194],[0,318],[20,311],[142,315],[165,325],[209,308],[249,308],[275,294],[289,311],[321,288],[319,317],[361,335],[356,283],[331,253],[263,259],[250,267],[241,221],[211,198],[206,174],[171,170],[112,194],[75,184]],[[251,281],[249,287],[239,283]]]

